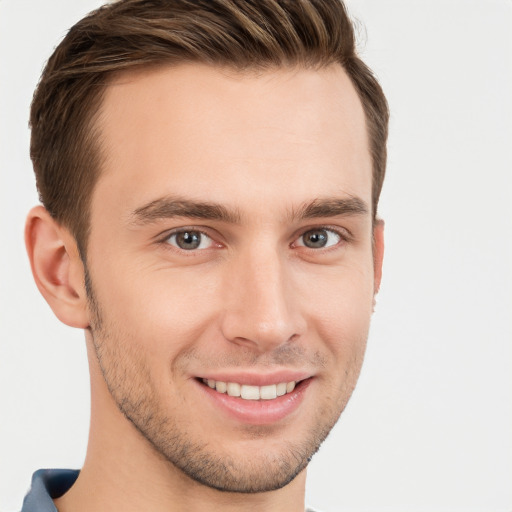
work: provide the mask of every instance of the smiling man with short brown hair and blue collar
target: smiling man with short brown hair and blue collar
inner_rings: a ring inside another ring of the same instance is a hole
[[[337,0],[121,0],[70,30],[26,244],[85,331],[90,437],[24,512],[304,510],[380,284],[387,121]]]

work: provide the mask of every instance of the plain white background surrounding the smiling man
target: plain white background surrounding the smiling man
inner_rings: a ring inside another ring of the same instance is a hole
[[[97,0],[0,0],[0,510],[31,473],[81,466],[83,335],[53,317],[23,246],[37,202],[27,119],[45,59]],[[382,291],[308,502],[512,511],[512,2],[350,0],[389,98]]]

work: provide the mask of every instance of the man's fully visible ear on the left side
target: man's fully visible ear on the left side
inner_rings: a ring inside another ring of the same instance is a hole
[[[27,217],[25,245],[36,285],[57,318],[87,328],[84,266],[74,237],[45,208],[36,206]]]

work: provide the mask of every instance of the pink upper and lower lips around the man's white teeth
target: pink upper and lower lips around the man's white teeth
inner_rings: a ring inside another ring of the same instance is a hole
[[[223,382],[238,382],[253,386],[265,386],[268,384],[276,384],[277,382],[286,382],[284,380],[275,380],[276,374],[272,376],[260,376],[256,379],[241,379],[241,376],[230,376],[230,379]],[[253,376],[256,377],[256,376]],[[207,377],[205,377],[207,378]],[[214,380],[223,380],[222,378],[213,378]],[[281,376],[279,376],[281,378]],[[237,380],[240,379],[240,380]],[[289,379],[300,380],[295,389],[291,393],[277,397],[273,400],[244,400],[238,397],[232,397],[225,393],[219,393],[214,389],[209,388],[201,381],[195,379],[195,384],[198,386],[208,402],[213,405],[216,411],[226,415],[228,418],[234,419],[236,422],[246,425],[272,425],[285,420],[292,415],[304,400],[306,390],[311,385],[313,378],[302,379]],[[261,384],[257,383],[261,382]]]

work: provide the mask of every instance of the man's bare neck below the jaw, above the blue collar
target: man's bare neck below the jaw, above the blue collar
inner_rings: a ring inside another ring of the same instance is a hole
[[[55,500],[59,512],[304,511],[305,471],[282,489],[253,494],[222,492],[189,478],[125,418],[97,365],[91,364],[90,368],[87,456],[73,487]]]

